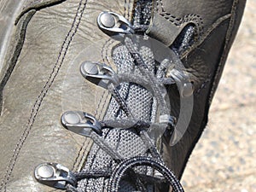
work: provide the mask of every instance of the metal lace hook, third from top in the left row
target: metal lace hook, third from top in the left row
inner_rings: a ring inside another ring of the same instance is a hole
[[[61,124],[69,131],[90,137],[94,131],[102,135],[102,126],[95,117],[80,111],[67,111],[61,115]]]

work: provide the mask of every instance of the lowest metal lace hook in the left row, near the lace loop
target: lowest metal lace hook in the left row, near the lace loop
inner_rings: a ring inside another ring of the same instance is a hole
[[[66,189],[67,184],[75,186],[76,177],[67,167],[57,163],[42,163],[35,168],[34,176],[39,183],[48,185],[55,189]]]

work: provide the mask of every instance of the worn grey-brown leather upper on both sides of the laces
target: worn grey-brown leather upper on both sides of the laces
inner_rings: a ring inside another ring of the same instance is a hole
[[[207,125],[212,96],[245,2],[154,2],[154,11],[169,20],[170,25],[182,25],[180,20],[193,21],[198,29],[197,40],[181,55],[195,86],[189,129],[175,146],[169,145],[169,137],[163,137],[163,158],[178,177]],[[131,20],[133,6],[133,1],[125,0],[29,1],[26,4],[17,19],[14,44],[9,46],[9,56],[0,74],[1,191],[52,191],[33,177],[34,167],[42,162],[61,163],[73,171],[81,169],[91,141],[65,130],[60,123],[61,113],[83,110],[102,118],[108,106],[108,93],[84,81],[79,65],[90,60],[113,66],[111,49],[115,43],[99,30],[96,17],[104,10],[111,10]],[[167,90],[171,113],[178,116],[177,91],[171,87]]]

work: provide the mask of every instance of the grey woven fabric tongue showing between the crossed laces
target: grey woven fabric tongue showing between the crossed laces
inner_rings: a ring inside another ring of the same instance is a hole
[[[149,48],[142,47],[140,54],[143,60],[146,61],[148,69],[154,73],[154,55]],[[124,45],[113,50],[113,61],[117,66],[118,73],[139,73],[137,67],[134,64],[131,55]],[[134,70],[134,72],[133,72]],[[143,88],[139,84],[122,83],[119,85],[119,94],[127,103],[127,106],[131,108],[131,113],[136,119],[142,119],[145,121],[152,121],[154,114],[152,113],[152,107],[154,106],[154,99],[151,93]],[[126,119],[125,113],[119,108],[119,103],[112,97],[108,111],[105,115],[106,119]],[[105,142],[108,143],[114,150],[121,154],[125,159],[138,155],[149,155],[148,148],[141,137],[137,136],[137,132],[133,129],[120,130],[120,129],[105,129],[103,133]],[[90,150],[90,154],[87,158],[87,162],[83,171],[97,171],[104,170],[112,172],[116,163],[112,158],[106,154],[96,144]],[[152,169],[146,167],[137,168],[136,172],[152,175]],[[120,183],[120,191],[134,191],[136,190],[134,184],[129,181],[122,181]],[[78,189],[81,191],[104,191],[108,186],[108,178],[90,178],[84,179],[79,182]],[[149,189],[151,188],[151,189]],[[148,191],[152,190],[152,186],[148,186]]]

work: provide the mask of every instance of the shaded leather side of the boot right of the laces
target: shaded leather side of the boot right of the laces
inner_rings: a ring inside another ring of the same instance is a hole
[[[241,22],[245,3],[245,0],[156,1],[155,9],[159,15],[172,23],[176,22],[177,25],[180,20],[188,21],[190,17],[198,23],[201,31],[198,40],[181,55],[195,87],[194,109],[189,128],[182,139],[172,147],[168,144],[169,138],[163,138],[164,159],[177,177],[182,176],[189,155],[207,125],[212,96]],[[179,96],[172,89],[168,92],[172,98],[171,113],[177,116]]]

